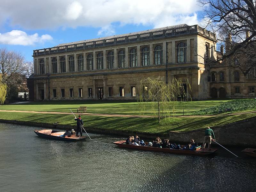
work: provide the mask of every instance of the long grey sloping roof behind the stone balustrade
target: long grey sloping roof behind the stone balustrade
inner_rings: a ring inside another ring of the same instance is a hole
[[[156,29],[149,29],[149,30],[145,30],[145,31],[126,33],[126,34],[122,34],[122,35],[100,37],[100,38],[83,40],[83,41],[76,41],[76,42],[71,42],[71,43],[62,43],[62,44],[56,45],[55,47],[60,47],[60,46],[65,46],[65,45],[72,45],[72,44],[80,44],[80,43],[88,43],[88,42],[93,42],[93,41],[107,40],[107,39],[119,38],[119,37],[125,37],[125,36],[140,35],[140,34],[144,34],[144,33],[170,30],[170,29],[182,28],[182,27],[187,27],[187,26],[188,26],[187,24],[173,25],[173,26],[169,26],[169,27],[162,27],[162,28],[156,28]]]

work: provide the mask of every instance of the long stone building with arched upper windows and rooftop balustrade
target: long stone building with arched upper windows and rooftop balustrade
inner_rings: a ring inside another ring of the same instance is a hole
[[[136,99],[140,81],[147,77],[166,82],[187,78],[192,89],[185,81],[184,88],[193,99],[230,97],[234,74],[220,64],[207,65],[216,58],[215,44],[215,34],[182,24],[34,50],[30,98]],[[239,82],[245,80],[239,73]],[[252,95],[244,89],[241,96]]]

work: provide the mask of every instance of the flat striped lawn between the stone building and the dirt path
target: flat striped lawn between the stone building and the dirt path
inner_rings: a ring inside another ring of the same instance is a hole
[[[197,110],[220,105],[228,100],[204,100],[175,102],[175,115],[190,115]],[[54,111],[54,112],[76,112],[79,106],[87,106],[87,113],[95,114],[121,114],[121,115],[142,115],[138,102],[129,101],[40,101],[16,105],[1,105],[0,110],[20,110],[20,111]],[[156,112],[157,113],[157,112]],[[154,115],[151,106],[148,105],[143,115]]]

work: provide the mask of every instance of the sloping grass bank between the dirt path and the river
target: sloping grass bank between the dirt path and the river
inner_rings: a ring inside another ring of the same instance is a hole
[[[210,116],[210,117],[170,117],[161,119],[157,123],[155,118],[132,118],[132,117],[105,117],[105,116],[82,116],[84,127],[105,130],[134,131],[138,133],[165,134],[169,131],[190,131],[207,126],[227,124],[256,114],[242,114],[233,116]],[[0,112],[0,119],[32,121],[38,123],[55,123],[75,125],[73,115],[53,115],[22,112]]]

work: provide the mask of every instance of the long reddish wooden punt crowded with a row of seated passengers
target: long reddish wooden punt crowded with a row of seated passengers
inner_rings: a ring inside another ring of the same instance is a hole
[[[201,148],[197,148],[196,151],[190,150],[182,150],[182,149],[168,149],[168,148],[157,148],[157,147],[147,147],[147,146],[138,146],[138,145],[128,145],[125,143],[125,140],[113,142],[118,147],[121,148],[131,148],[131,149],[138,149],[138,150],[146,150],[146,151],[158,151],[158,152],[165,152],[165,153],[175,153],[175,154],[185,154],[185,155],[210,155],[216,152],[218,149],[211,148],[209,151],[207,148],[200,150]]]

